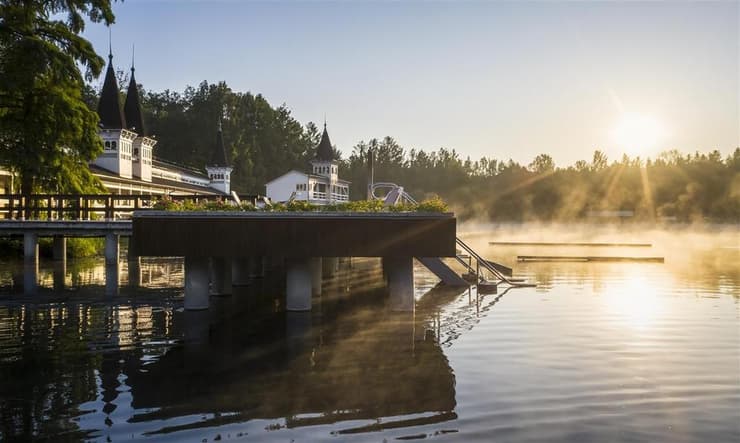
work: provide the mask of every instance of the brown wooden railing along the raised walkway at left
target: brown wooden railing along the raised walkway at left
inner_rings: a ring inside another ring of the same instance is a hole
[[[252,196],[245,196],[249,201]],[[100,220],[129,218],[134,211],[152,209],[162,196],[124,194],[0,194],[0,219]],[[219,198],[209,195],[170,195],[174,201],[195,203]]]

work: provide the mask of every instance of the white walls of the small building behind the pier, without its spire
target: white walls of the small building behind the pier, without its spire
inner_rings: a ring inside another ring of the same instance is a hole
[[[327,172],[327,174],[331,173]],[[273,202],[293,199],[325,205],[349,201],[349,182],[337,178],[336,172],[334,175],[334,183],[332,183],[328,176],[289,171],[269,181],[265,185],[267,188],[265,195]]]

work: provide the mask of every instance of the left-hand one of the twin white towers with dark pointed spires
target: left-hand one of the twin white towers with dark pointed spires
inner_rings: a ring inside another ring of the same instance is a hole
[[[100,92],[98,116],[100,117],[98,134],[103,139],[103,153],[94,163],[121,177],[131,178],[131,157],[136,134],[127,129],[126,119],[121,112],[112,52],[108,53],[108,69],[105,71],[103,90]]]

